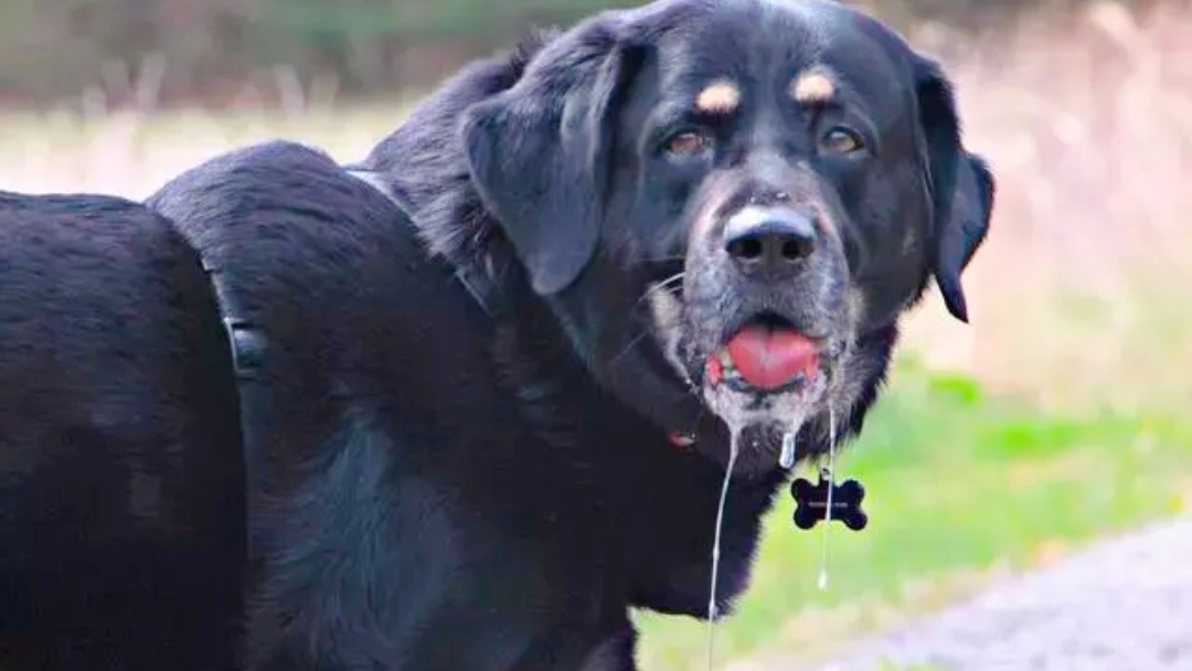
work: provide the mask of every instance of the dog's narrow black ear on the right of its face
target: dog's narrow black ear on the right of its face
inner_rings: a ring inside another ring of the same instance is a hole
[[[989,230],[995,182],[985,160],[961,143],[952,87],[939,64],[917,56],[914,79],[931,200],[932,272],[948,311],[967,323],[961,273]]]

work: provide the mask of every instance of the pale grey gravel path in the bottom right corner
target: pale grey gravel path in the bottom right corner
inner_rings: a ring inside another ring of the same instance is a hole
[[[886,660],[892,665],[883,666]],[[819,671],[1192,671],[1192,517],[997,585]]]

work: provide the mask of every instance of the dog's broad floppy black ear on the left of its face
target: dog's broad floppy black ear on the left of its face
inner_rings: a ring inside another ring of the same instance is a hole
[[[600,240],[619,98],[639,63],[615,29],[565,33],[461,122],[480,198],[542,296],[571,285]]]

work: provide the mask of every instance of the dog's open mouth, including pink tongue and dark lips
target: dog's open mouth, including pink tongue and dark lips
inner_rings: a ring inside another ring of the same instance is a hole
[[[824,338],[803,334],[787,318],[760,313],[733,333],[704,362],[704,383],[764,397],[800,393],[824,374]]]

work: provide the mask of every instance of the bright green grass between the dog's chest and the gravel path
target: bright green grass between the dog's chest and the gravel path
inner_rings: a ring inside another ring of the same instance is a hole
[[[838,472],[865,485],[869,528],[833,526],[821,592],[820,532],[795,529],[783,493],[752,586],[718,629],[720,664],[781,654],[789,669],[992,574],[1181,510],[1192,491],[1192,421],[1043,415],[904,359]],[[704,667],[704,625],[653,615],[639,623],[642,667]]]

